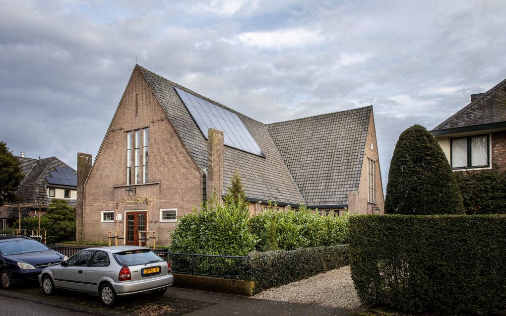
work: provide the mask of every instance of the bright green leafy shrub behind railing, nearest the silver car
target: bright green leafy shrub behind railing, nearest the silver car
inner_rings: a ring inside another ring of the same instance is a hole
[[[178,218],[172,233],[171,251],[180,253],[247,255],[255,249],[257,239],[249,232],[248,205],[228,199],[224,205],[214,199],[200,205],[200,211]]]

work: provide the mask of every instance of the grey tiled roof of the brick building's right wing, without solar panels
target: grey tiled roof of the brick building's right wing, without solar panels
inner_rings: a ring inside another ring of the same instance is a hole
[[[308,205],[357,191],[372,106],[267,125]]]

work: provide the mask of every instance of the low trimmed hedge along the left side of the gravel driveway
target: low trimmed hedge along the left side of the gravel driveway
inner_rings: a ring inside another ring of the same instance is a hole
[[[244,275],[255,281],[254,293],[306,279],[349,264],[348,245],[251,252]]]

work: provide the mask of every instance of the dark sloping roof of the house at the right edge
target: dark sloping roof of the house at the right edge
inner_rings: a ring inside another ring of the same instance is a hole
[[[506,79],[433,130],[506,122]]]

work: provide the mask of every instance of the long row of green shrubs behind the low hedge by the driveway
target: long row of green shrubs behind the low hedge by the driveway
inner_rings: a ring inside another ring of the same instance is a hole
[[[267,211],[249,220],[251,233],[259,239],[258,251],[276,249],[274,245],[279,249],[294,250],[341,245],[348,241],[347,214],[334,217],[329,213],[323,217],[305,206],[298,211],[288,208],[286,212],[273,210],[275,208],[270,205]]]

